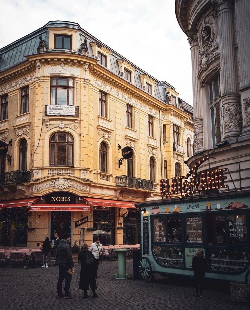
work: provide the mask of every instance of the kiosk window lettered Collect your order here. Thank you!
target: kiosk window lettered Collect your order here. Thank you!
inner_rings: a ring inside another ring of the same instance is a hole
[[[230,244],[247,243],[247,221],[246,215],[227,215],[227,238]]]

